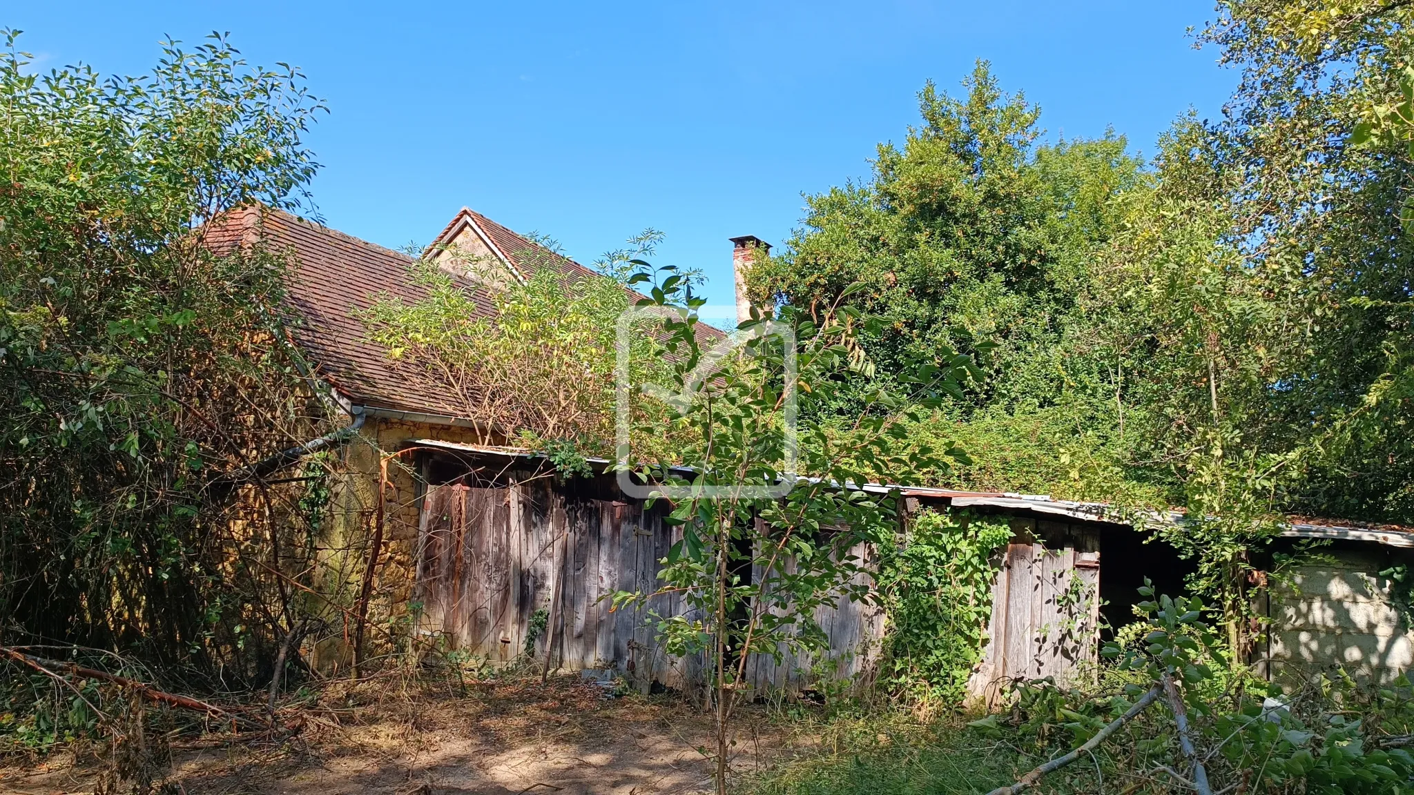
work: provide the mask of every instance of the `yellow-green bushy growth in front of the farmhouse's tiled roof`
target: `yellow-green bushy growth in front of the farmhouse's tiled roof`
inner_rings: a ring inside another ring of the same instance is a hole
[[[409,378],[445,395],[484,443],[523,443],[553,457],[611,455],[615,324],[635,297],[624,267],[658,239],[649,232],[631,240],[632,249],[605,255],[601,270],[617,277],[567,277],[556,267],[533,267],[523,282],[492,280],[478,273],[499,263],[450,250],[436,262],[419,262],[409,274],[424,297],[404,301],[383,294],[359,317],[369,338],[407,362]],[[536,248],[518,252],[518,259],[534,263],[549,253]],[[636,337],[632,344],[639,352],[632,359],[635,379],[650,381],[662,369],[645,355],[653,342]],[[635,439],[638,450],[672,457],[673,430],[665,419]]]

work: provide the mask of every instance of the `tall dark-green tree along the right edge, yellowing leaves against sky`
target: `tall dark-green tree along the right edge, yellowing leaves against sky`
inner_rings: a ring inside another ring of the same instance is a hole
[[[1203,127],[1213,171],[1175,157],[1164,178],[1195,197],[1219,181],[1225,240],[1284,304],[1285,372],[1250,433],[1301,453],[1288,506],[1411,521],[1414,240],[1400,226],[1414,158],[1398,132],[1410,6],[1247,0],[1219,11],[1203,38],[1243,79],[1225,120]]]

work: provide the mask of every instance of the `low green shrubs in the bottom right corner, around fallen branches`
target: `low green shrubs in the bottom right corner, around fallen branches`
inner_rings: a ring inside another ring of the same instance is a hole
[[[1199,600],[1155,598],[1148,587],[1141,594],[1148,597],[1137,605],[1147,632],[1127,649],[1106,646],[1114,669],[1100,692],[1019,683],[1010,720],[991,717],[973,729],[1055,757],[1089,740],[1150,687],[1171,683],[1176,700],[1159,697],[1094,750],[1092,770],[1076,764],[1058,779],[1103,778],[1127,792],[1167,792],[1191,789],[1202,765],[1213,792],[1414,789],[1414,755],[1406,750],[1414,741],[1414,686],[1407,678],[1377,686],[1336,671],[1284,689],[1229,668]],[[1179,706],[1193,754],[1181,748]]]

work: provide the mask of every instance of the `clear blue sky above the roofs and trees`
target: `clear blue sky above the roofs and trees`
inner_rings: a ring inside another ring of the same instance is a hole
[[[783,240],[802,192],[865,177],[987,58],[1055,137],[1133,149],[1236,82],[1185,34],[1212,0],[933,3],[27,3],[0,11],[41,66],[136,74],[212,30],[298,65],[327,99],[310,143],[327,222],[426,243],[462,205],[590,262],[653,226],[659,262],[731,300],[728,236]]]

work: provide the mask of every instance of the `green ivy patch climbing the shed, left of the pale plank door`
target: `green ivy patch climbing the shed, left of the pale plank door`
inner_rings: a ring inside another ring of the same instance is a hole
[[[908,700],[954,706],[981,656],[1005,519],[925,511],[880,560],[888,614],[880,682]]]

